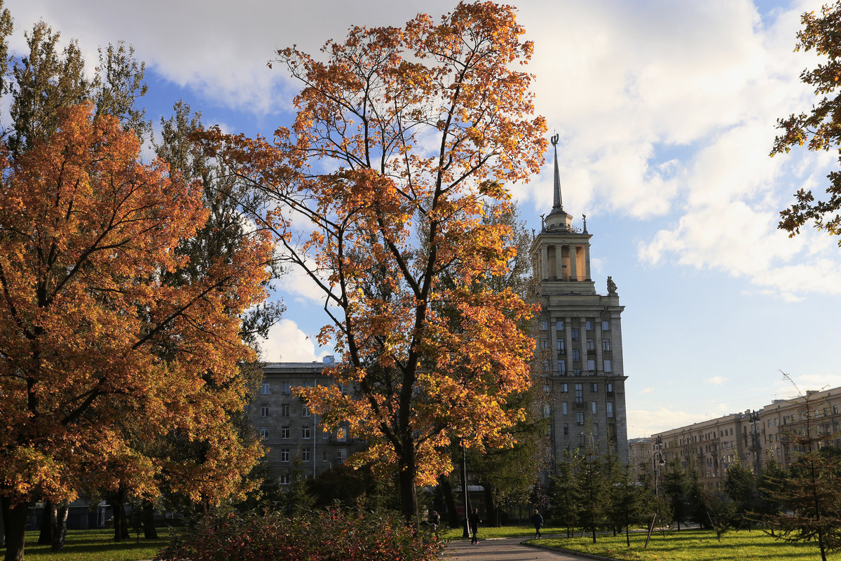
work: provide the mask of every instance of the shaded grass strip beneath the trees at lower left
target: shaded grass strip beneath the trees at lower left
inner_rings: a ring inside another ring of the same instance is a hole
[[[50,552],[50,546],[38,545],[38,532],[26,532],[26,561],[138,561],[151,559],[169,543],[166,529],[158,529],[159,540],[146,541],[134,535],[125,542],[114,542],[114,530],[68,530],[64,551]],[[6,548],[0,548],[0,557]]]

